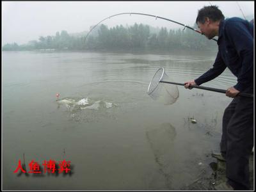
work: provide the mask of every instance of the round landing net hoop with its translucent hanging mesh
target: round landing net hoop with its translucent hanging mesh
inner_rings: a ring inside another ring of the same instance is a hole
[[[164,68],[159,68],[148,85],[148,95],[152,99],[162,102],[165,105],[173,104],[179,98],[177,85],[161,83],[159,81],[172,81],[164,72]]]

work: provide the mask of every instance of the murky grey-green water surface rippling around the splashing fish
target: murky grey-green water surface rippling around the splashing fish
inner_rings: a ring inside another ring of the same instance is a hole
[[[210,177],[231,99],[177,86],[177,100],[164,105],[147,88],[159,67],[184,83],[215,55],[3,52],[3,189],[189,189]],[[225,70],[204,86],[234,84]],[[23,154],[27,168],[66,159],[73,173],[17,177]]]

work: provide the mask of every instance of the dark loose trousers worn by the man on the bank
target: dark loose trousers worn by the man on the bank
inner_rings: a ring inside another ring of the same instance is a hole
[[[234,189],[250,189],[249,157],[253,148],[253,98],[236,97],[223,115],[221,153]]]

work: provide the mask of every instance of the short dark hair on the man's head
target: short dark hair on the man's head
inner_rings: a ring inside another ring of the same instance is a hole
[[[215,5],[204,6],[202,9],[198,10],[196,23],[200,22],[204,24],[206,17],[209,17],[209,19],[212,21],[225,19],[224,15],[221,13],[221,10],[219,10],[218,6]]]

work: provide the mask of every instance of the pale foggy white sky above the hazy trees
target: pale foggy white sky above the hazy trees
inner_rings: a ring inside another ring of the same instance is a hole
[[[28,43],[39,36],[55,35],[57,31],[68,33],[88,31],[100,20],[122,12],[140,12],[166,17],[188,26],[195,24],[197,12],[203,6],[218,5],[225,17],[254,15],[254,1],[84,1],[84,2],[3,2],[2,1],[2,45],[16,42]],[[109,27],[135,22],[150,26],[180,28],[166,20],[141,15],[121,15],[103,22]]]

